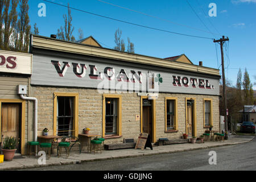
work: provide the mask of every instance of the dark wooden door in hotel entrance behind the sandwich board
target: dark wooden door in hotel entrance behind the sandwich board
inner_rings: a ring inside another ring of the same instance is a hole
[[[142,132],[151,136],[151,106],[143,106]]]

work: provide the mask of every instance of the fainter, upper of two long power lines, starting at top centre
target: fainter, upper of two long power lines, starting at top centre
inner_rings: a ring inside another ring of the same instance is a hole
[[[112,6],[115,6],[115,7],[119,7],[119,8],[121,8],[121,9],[125,9],[125,10],[129,10],[129,11],[133,11],[133,12],[135,12],[135,13],[139,13],[139,14],[143,14],[143,15],[146,15],[146,16],[150,16],[151,18],[156,18],[156,19],[159,19],[159,20],[163,20],[163,21],[165,21],[165,22],[169,22],[169,23],[177,24],[177,25],[179,25],[179,26],[183,26],[183,27],[187,27],[187,28],[192,28],[192,29],[194,29],[194,30],[198,30],[198,31],[207,32],[207,33],[212,34],[212,32],[208,32],[208,31],[205,31],[205,30],[201,30],[201,29],[199,29],[199,28],[195,28],[195,27],[187,26],[187,25],[185,25],[185,24],[172,22],[172,21],[170,21],[170,20],[168,20],[168,19],[159,18],[158,16],[153,16],[153,15],[149,15],[149,14],[146,14],[146,13],[142,13],[141,11],[128,9],[127,7],[114,5],[114,4],[112,4],[112,3],[105,2],[105,1],[101,1],[101,0],[97,0],[97,1],[100,1],[100,2],[106,3],[106,4],[108,4],[108,5],[112,5]],[[216,34],[216,35],[217,35],[217,34]]]

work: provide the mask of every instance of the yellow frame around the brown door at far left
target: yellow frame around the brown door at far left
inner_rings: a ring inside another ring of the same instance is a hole
[[[20,130],[20,153],[22,155],[25,155],[25,115],[26,115],[26,101],[25,100],[19,100],[19,99],[1,99],[0,100],[0,136],[1,136],[1,123],[2,123],[2,103],[11,103],[11,104],[21,104],[22,106],[22,112],[20,115],[21,119],[21,130]]]

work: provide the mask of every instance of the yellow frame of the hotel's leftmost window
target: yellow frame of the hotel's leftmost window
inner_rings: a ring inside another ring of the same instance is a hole
[[[73,136],[78,137],[79,126],[78,126],[78,116],[79,116],[79,93],[54,93],[53,100],[53,135],[57,135],[57,97],[74,97],[74,118],[73,118]]]

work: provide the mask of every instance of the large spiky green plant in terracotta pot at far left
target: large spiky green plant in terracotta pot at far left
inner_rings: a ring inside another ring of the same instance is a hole
[[[14,158],[14,154],[16,152],[16,144],[17,140],[14,137],[6,137],[3,140],[3,148],[1,149],[3,152],[3,159],[7,161],[11,161]]]

